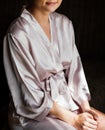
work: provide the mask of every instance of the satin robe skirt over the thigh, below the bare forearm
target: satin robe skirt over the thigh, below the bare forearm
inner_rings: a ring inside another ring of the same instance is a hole
[[[28,123],[25,130],[76,130],[71,125],[54,118],[47,117],[43,121],[34,124]]]

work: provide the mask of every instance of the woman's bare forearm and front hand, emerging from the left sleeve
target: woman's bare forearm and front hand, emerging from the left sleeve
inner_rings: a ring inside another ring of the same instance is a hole
[[[93,115],[88,112],[77,115],[54,102],[49,114],[54,115],[58,119],[74,126],[77,130],[97,129],[97,121],[95,121]]]

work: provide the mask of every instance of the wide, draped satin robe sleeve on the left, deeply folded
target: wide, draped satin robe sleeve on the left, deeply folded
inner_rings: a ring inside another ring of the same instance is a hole
[[[5,37],[4,66],[16,113],[40,121],[48,115],[52,99],[42,87],[25,42],[27,39],[22,35]]]

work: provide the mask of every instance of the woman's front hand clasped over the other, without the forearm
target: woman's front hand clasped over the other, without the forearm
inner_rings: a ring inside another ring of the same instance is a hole
[[[95,121],[93,116],[87,112],[77,115],[73,124],[78,130],[96,130],[97,125],[97,121]]]

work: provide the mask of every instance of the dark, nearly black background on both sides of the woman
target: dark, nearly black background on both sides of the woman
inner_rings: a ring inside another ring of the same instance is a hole
[[[24,0],[0,1],[0,124],[5,125],[9,90],[3,67],[3,37],[19,15]],[[91,105],[105,112],[105,3],[104,0],[63,0],[57,10],[74,25],[76,44],[92,95]]]

